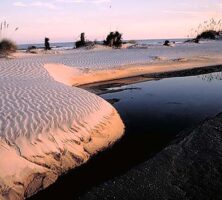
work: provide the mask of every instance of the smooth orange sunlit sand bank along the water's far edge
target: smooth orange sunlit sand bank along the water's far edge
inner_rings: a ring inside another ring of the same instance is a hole
[[[102,70],[82,70],[54,63],[45,64],[44,67],[56,81],[84,88],[84,86],[91,84],[104,84],[109,81],[142,76],[157,78],[156,75],[158,74],[180,73],[180,71],[183,70],[203,69],[221,65],[222,57],[220,57],[220,55],[215,55],[214,57],[180,58],[175,60],[155,61],[147,64],[124,65],[113,69]]]

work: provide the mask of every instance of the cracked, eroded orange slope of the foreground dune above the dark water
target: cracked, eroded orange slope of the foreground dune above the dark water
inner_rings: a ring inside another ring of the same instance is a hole
[[[101,115],[101,112],[93,115]],[[37,138],[20,137],[14,144],[0,140],[0,199],[23,199],[45,189],[63,173],[82,165],[121,138],[124,125],[112,109],[100,121],[73,130],[55,130]],[[90,130],[90,129],[91,130]],[[9,159],[10,158],[10,162]]]

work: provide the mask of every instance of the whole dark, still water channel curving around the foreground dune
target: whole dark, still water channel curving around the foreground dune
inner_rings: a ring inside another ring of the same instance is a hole
[[[101,96],[119,111],[126,125],[123,139],[32,199],[77,199],[148,160],[180,131],[220,113],[222,73],[131,84],[110,88]]]

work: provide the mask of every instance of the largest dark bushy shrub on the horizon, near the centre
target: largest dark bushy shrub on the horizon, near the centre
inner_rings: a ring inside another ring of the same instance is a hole
[[[110,47],[120,48],[122,44],[122,34],[120,34],[118,31],[110,32],[109,35],[107,35],[106,40],[104,41],[104,45]]]

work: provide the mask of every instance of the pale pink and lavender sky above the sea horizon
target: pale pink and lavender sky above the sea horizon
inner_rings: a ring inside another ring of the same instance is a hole
[[[0,22],[9,24],[1,36],[18,44],[70,42],[81,32],[103,40],[111,30],[124,39],[185,38],[211,18],[222,19],[222,0],[0,0]]]

